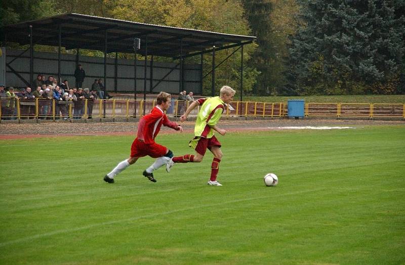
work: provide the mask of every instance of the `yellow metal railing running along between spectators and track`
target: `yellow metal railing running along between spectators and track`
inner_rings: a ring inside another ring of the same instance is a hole
[[[172,100],[169,117],[180,117],[191,101]],[[2,119],[91,119],[139,118],[149,113],[155,100],[79,100],[0,99]],[[190,116],[196,116],[199,107]],[[235,101],[225,106],[226,117],[284,117],[287,103]],[[405,118],[405,104],[386,103],[306,103],[305,117],[397,117]]]

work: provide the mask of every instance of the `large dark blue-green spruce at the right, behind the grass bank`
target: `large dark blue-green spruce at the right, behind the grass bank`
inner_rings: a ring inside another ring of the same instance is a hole
[[[286,90],[300,95],[401,92],[404,3],[302,2],[307,26],[293,38]]]

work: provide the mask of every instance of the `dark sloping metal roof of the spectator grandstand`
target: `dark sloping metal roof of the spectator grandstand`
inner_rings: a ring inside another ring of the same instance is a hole
[[[81,14],[63,14],[5,26],[2,38],[28,45],[29,26],[32,25],[34,44],[58,46],[61,25],[61,46],[70,49],[104,51],[104,34],[107,35],[107,53],[134,52],[134,38],[141,39],[139,54],[178,57],[207,49],[235,47],[251,43],[254,36],[225,34],[204,30],[176,28],[138,23],[126,20],[95,17]],[[6,33],[6,35],[4,35]]]

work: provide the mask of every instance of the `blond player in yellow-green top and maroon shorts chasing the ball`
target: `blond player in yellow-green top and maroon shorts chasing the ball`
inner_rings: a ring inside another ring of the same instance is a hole
[[[173,157],[166,165],[166,170],[170,169],[175,163],[201,162],[208,150],[214,155],[211,164],[211,177],[208,185],[222,186],[217,181],[219,163],[222,159],[221,143],[214,136],[214,131],[225,136],[226,130],[217,126],[219,119],[225,108],[225,104],[232,101],[235,91],[229,86],[222,86],[219,97],[205,98],[193,101],[187,108],[186,112],[180,117],[180,121],[185,121],[188,114],[197,106],[201,106],[194,127],[194,139],[190,141],[189,146],[194,148],[195,155],[186,154],[183,156]]]

